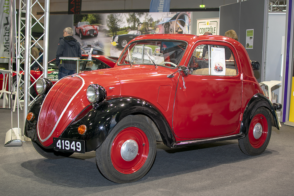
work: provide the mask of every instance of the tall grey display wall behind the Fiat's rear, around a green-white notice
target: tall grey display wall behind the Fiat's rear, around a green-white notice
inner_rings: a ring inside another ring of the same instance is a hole
[[[226,31],[233,29],[238,35],[238,41],[245,47],[246,30],[254,29],[253,48],[246,50],[250,60],[260,63],[260,69],[254,71],[255,78],[258,82],[265,80],[263,76],[267,17],[268,0],[249,0],[220,6],[220,35],[224,35]]]

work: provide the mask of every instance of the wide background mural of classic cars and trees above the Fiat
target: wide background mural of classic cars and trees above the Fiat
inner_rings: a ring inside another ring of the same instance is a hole
[[[191,34],[191,12],[77,14],[73,30],[82,54],[93,48],[93,54],[118,57],[131,39],[142,34]]]

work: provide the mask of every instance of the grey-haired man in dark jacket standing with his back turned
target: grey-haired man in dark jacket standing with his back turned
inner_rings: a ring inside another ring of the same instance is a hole
[[[74,31],[70,27],[63,30],[63,37],[59,38],[56,52],[56,66],[58,66],[58,79],[76,73],[76,61],[59,60],[59,57],[82,57],[80,43],[73,37]]]

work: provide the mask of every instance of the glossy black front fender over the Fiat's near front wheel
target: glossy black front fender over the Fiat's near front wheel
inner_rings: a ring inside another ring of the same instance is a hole
[[[86,152],[96,150],[106,139],[113,127],[127,115],[143,114],[151,118],[157,126],[163,143],[171,147],[175,142],[171,128],[163,115],[148,102],[137,98],[110,98],[88,113],[81,113],[60,135],[86,141]],[[86,125],[84,135],[78,134],[80,125]]]

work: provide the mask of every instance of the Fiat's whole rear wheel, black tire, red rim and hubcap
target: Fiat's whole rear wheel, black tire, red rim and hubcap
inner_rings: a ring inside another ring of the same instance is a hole
[[[239,147],[246,155],[260,155],[268,146],[272,133],[269,111],[258,108],[253,114],[248,132],[244,138],[239,139]]]

